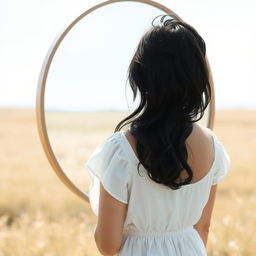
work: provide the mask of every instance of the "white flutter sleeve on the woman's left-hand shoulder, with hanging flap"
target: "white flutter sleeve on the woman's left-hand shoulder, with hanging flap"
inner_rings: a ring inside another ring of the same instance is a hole
[[[89,157],[85,166],[90,176],[88,196],[98,216],[100,183],[118,201],[128,203],[129,166],[117,133],[101,143]]]

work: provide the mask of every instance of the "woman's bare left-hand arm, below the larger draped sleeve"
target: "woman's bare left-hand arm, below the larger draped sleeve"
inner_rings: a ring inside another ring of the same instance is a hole
[[[100,183],[98,223],[94,238],[99,251],[110,256],[121,247],[127,204],[112,197]]]

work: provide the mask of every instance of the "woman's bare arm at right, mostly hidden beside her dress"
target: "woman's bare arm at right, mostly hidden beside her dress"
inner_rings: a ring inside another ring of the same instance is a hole
[[[217,190],[217,184],[211,187],[210,196],[207,204],[204,207],[202,216],[200,220],[194,225],[194,228],[197,230],[200,237],[202,238],[205,247],[208,240],[209,228],[211,224],[211,216],[212,216],[213,206],[214,206],[215,197],[216,197],[216,190]]]

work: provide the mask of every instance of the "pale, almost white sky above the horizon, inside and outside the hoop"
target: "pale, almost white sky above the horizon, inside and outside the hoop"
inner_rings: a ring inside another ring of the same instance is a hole
[[[0,0],[0,107],[34,108],[38,78],[54,39],[100,1]],[[162,0],[206,42],[216,108],[256,108],[256,2]],[[125,8],[124,8],[125,7]],[[64,38],[47,80],[49,108],[123,109],[131,103],[126,69],[151,17],[162,14],[125,1],[87,15]]]

